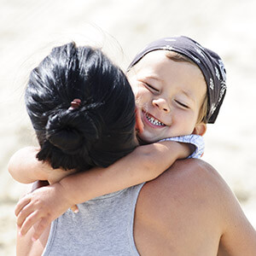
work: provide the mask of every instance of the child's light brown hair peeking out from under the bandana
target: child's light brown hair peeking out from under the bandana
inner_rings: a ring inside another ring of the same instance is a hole
[[[185,55],[182,55],[182,54],[179,54],[179,53],[177,53],[175,51],[170,51],[170,50],[166,51],[166,57],[171,59],[172,61],[185,61],[185,62],[189,62],[190,64],[192,64],[195,67],[199,68],[195,64],[194,61],[189,59],[189,57],[187,57]],[[207,83],[206,83],[206,86],[207,86]],[[203,102],[201,103],[201,108],[200,108],[199,113],[198,113],[198,118],[197,118],[197,121],[196,121],[197,124],[199,124],[201,122],[207,124],[207,112],[208,112],[207,106],[208,106],[208,97],[207,97],[207,93],[206,93],[206,95],[204,96]]]

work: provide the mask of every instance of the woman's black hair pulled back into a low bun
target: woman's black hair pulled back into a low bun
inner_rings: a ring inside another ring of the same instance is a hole
[[[71,109],[74,99],[79,108]],[[70,43],[32,70],[26,109],[53,168],[109,166],[135,148],[135,99],[125,74],[100,49]]]

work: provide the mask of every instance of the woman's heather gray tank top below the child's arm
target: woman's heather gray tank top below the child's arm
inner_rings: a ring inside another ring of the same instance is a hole
[[[138,256],[133,222],[143,184],[86,201],[79,213],[69,209],[51,224],[42,255]]]

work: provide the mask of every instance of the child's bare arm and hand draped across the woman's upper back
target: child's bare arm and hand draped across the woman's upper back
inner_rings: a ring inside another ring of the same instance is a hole
[[[38,239],[46,226],[73,204],[154,179],[175,160],[187,157],[189,147],[176,142],[140,146],[108,168],[76,173],[59,183],[35,190],[23,197],[15,209],[20,234],[25,235],[33,224],[40,221],[34,235]]]

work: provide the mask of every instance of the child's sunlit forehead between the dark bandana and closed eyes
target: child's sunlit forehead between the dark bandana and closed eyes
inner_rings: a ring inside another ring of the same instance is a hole
[[[131,71],[131,76],[135,75],[135,79],[161,86],[161,90],[178,91],[180,95],[185,95],[194,102],[198,100],[197,96],[201,99],[207,92],[201,69],[188,61],[170,59],[165,50],[149,52],[132,69],[134,73]]]

